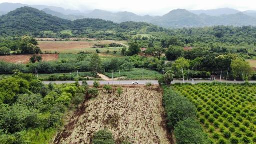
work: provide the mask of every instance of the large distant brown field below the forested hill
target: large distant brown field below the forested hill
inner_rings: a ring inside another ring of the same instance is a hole
[[[89,40],[89,41],[38,41],[39,47],[42,52],[60,52],[60,53],[78,53],[84,52],[96,52],[99,49],[100,52],[106,52],[109,50],[119,51],[121,47],[108,47],[108,48],[93,48],[94,44],[127,44],[127,41],[114,41],[114,40]]]

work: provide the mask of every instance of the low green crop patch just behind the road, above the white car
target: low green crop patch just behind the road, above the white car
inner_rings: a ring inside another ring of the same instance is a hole
[[[106,76],[112,78],[111,72],[105,72]],[[125,77],[123,80],[157,80],[157,78],[161,76],[161,73],[157,71],[142,69],[142,68],[134,68],[132,71],[121,71],[120,76],[119,72],[113,73],[113,78],[117,77]]]

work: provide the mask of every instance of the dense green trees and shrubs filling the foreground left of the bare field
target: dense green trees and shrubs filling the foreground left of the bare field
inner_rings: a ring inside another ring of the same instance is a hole
[[[0,80],[0,143],[50,141],[52,137],[47,132],[62,124],[67,108],[83,101],[86,88],[74,84],[44,85],[32,74],[14,73]]]

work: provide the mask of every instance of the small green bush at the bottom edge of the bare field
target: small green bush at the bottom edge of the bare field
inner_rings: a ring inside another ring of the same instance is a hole
[[[92,136],[93,144],[114,144],[114,138],[110,131],[107,129],[99,130]]]

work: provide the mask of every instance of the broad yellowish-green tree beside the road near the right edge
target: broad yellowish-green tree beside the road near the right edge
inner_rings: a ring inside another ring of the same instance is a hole
[[[231,62],[231,68],[234,76],[234,80],[238,77],[241,76],[241,78],[244,81],[248,81],[249,77],[251,76],[252,69],[250,67],[250,64],[241,59],[241,58],[236,58],[233,59]]]

